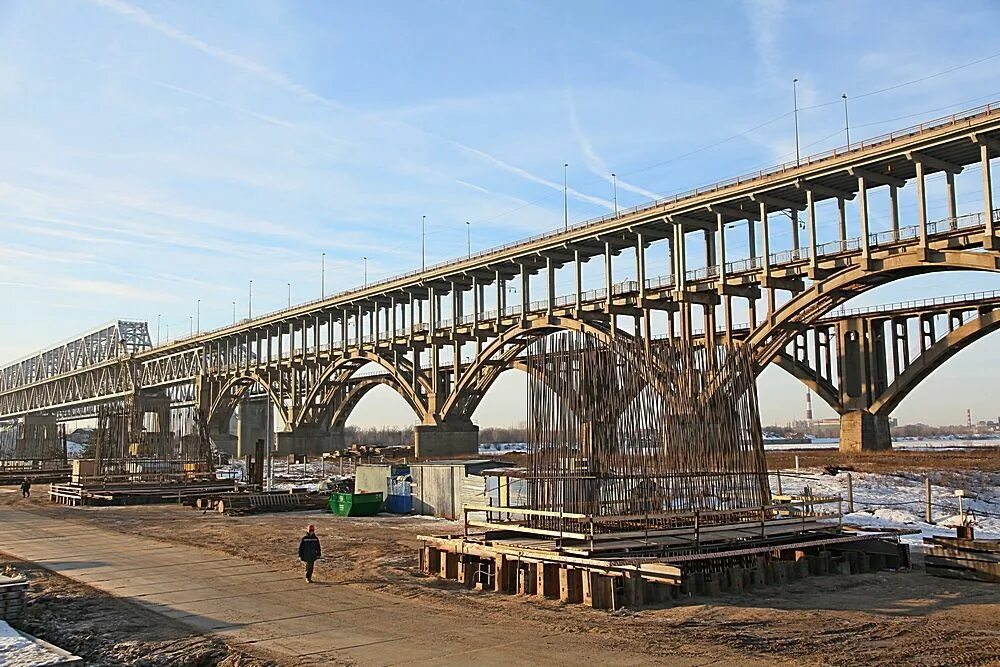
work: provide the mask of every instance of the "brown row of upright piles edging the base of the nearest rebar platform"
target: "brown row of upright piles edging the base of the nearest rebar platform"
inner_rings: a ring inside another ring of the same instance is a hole
[[[909,566],[907,547],[890,536],[830,531],[803,537],[719,553],[602,559],[518,550],[503,539],[422,536],[420,567],[470,589],[619,609]]]

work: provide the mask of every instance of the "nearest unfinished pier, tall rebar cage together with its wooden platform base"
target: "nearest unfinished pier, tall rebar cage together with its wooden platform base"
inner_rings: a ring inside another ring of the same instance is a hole
[[[564,332],[525,359],[523,476],[469,502],[468,475],[424,466],[463,518],[423,537],[425,572],[617,609],[908,566],[897,536],[846,530],[839,497],[772,495],[745,348]]]

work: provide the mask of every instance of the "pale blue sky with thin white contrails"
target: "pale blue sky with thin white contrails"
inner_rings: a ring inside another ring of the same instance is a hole
[[[366,263],[418,268],[422,215],[428,263],[468,231],[479,250],[553,229],[564,163],[579,221],[613,208],[611,172],[624,207],[790,160],[794,78],[803,154],[844,143],[845,93],[852,139],[1000,100],[998,20],[974,1],[0,0],[0,359],[116,318],[185,335],[199,300],[222,326],[251,280],[255,314],[314,299],[324,253],[327,293]],[[961,352],[894,416],[995,418],[998,351]],[[798,381],[759,386],[765,422],[803,416]],[[524,377],[475,419],[522,421]],[[388,389],[350,421],[412,422]]]

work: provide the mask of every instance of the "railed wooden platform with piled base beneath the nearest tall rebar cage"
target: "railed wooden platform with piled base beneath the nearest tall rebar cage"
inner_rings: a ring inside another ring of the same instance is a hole
[[[909,566],[898,535],[852,533],[839,511],[822,510],[840,498],[779,500],[740,512],[617,517],[466,505],[465,534],[421,536],[420,567],[467,588],[618,609]]]

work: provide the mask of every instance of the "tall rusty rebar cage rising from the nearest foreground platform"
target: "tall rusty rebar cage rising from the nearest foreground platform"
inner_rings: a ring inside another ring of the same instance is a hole
[[[531,509],[601,518],[614,531],[699,513],[739,520],[770,504],[756,383],[741,347],[563,332],[533,342],[526,359]]]

